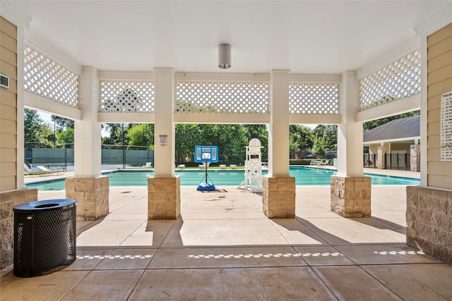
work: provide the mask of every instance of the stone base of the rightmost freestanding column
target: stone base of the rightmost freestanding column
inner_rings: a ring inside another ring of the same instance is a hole
[[[331,211],[343,217],[370,217],[371,178],[331,176]]]

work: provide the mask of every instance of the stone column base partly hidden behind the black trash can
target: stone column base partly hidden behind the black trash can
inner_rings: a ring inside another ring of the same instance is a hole
[[[66,178],[66,198],[77,201],[77,220],[94,221],[109,214],[108,176]]]

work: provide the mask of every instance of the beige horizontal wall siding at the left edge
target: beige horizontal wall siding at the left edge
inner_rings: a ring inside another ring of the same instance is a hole
[[[17,29],[0,17],[0,73],[10,88],[0,87],[0,191],[16,189],[17,176]]]

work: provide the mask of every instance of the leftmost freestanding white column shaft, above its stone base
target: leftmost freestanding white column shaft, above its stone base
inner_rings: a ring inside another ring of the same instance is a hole
[[[98,176],[101,173],[101,130],[99,111],[99,80],[97,70],[83,67],[80,80],[79,108],[82,118],[74,122],[75,176]]]

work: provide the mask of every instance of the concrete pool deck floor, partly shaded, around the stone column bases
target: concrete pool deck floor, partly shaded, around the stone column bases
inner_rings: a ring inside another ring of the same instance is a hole
[[[373,186],[369,219],[331,212],[328,185],[297,186],[296,219],[218,190],[181,187],[181,216],[148,221],[146,187],[110,188],[109,215],[77,222],[76,262],[4,269],[1,300],[452,300],[452,266],[405,245],[405,186]]]

